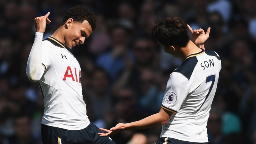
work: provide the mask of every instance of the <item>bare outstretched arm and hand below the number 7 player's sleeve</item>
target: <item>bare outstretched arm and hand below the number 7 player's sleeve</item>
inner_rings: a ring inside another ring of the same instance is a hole
[[[142,120],[131,122],[131,123],[118,123],[116,127],[112,127],[110,130],[102,129],[107,133],[98,133],[101,137],[114,135],[123,130],[132,130],[132,129],[147,129],[151,127],[156,127],[159,125],[164,125],[169,122],[170,118],[173,116],[174,112],[160,109],[159,113],[150,115]]]

